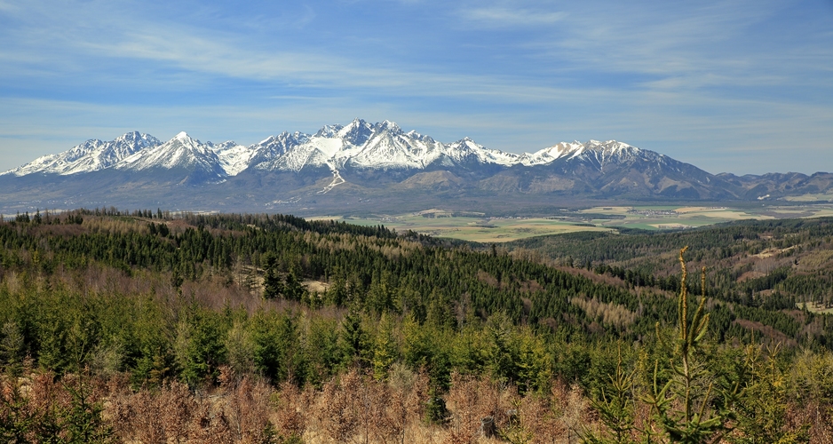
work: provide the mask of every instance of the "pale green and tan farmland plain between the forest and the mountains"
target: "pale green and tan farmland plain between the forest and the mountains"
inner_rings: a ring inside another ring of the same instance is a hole
[[[406,214],[379,214],[367,217],[319,216],[310,219],[334,219],[377,226],[396,231],[413,230],[435,237],[449,237],[473,242],[511,242],[546,234],[577,231],[607,231],[617,227],[644,230],[678,230],[708,226],[741,219],[817,218],[833,216],[833,205],[760,206],[748,208],[642,205],[593,207],[584,210],[553,210],[551,216],[524,218],[489,217],[474,211],[422,210]]]

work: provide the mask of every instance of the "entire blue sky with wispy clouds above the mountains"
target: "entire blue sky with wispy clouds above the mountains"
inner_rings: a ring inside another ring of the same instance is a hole
[[[0,0],[0,170],[133,130],[249,145],[354,117],[833,171],[833,1]]]

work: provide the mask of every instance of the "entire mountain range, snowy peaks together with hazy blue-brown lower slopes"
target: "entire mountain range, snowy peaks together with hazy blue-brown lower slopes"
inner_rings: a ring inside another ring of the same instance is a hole
[[[93,139],[0,174],[0,212],[129,205],[324,214],[380,205],[516,208],[565,200],[758,201],[833,194],[833,174],[734,176],[615,140],[513,154],[355,119],[248,147],[180,132]]]

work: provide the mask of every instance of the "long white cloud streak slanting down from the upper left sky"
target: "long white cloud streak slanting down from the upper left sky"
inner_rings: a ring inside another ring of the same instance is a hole
[[[41,31],[36,31],[40,33]],[[111,64],[159,66],[163,63],[188,73],[219,75],[257,81],[289,83],[294,87],[356,91],[363,89],[379,94],[397,96],[468,97],[498,99],[515,103],[544,101],[555,97],[575,95],[576,91],[560,90],[528,83],[508,76],[443,72],[441,69],[417,70],[414,67],[385,67],[367,64],[364,59],[347,58],[320,52],[292,52],[247,48],[234,35],[199,29],[174,28],[154,25],[140,29],[129,28],[112,33],[107,39],[78,33],[61,46],[75,54],[67,63],[56,64],[52,54],[25,56],[23,52],[0,52],[0,59],[14,61],[13,66],[25,69],[27,75],[57,75],[63,70],[74,70],[77,54],[85,57],[105,57]],[[20,63],[27,58],[28,63]],[[57,56],[60,60],[60,56]],[[136,60],[136,61],[131,61]],[[23,67],[23,66],[26,67]],[[38,69],[40,67],[40,69]],[[23,74],[19,72],[18,75]],[[91,75],[99,75],[95,71]],[[135,80],[131,71],[124,74]],[[112,76],[102,73],[100,76]],[[178,75],[167,75],[163,80],[177,82]],[[110,79],[112,80],[112,79]],[[144,79],[156,83],[160,79]],[[182,76],[182,83],[194,83],[193,75]],[[586,93],[586,92],[585,92]],[[349,94],[349,92],[348,92]]]

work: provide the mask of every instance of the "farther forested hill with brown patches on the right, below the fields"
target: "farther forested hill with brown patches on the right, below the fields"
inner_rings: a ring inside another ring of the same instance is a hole
[[[833,308],[833,218],[542,236],[506,247],[518,257],[590,268],[631,286],[676,290],[675,250],[683,245],[691,249],[692,266],[707,268],[710,296],[747,306]]]

